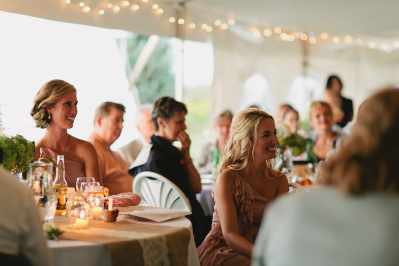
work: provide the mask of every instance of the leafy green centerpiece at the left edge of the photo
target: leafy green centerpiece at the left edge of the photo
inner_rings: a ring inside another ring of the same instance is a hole
[[[32,145],[21,135],[8,137],[0,135],[3,149],[3,167],[13,175],[28,170],[28,160],[34,156]]]

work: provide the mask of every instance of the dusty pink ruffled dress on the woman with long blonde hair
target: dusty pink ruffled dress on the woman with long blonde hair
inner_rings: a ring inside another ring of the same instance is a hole
[[[239,234],[253,244],[269,200],[253,190],[237,173],[231,191],[237,210]],[[239,255],[227,246],[222,235],[216,201],[214,210],[212,229],[197,249],[201,266],[222,265],[226,260]]]

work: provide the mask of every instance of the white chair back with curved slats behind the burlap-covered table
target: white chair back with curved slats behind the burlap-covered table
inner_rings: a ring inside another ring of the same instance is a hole
[[[140,206],[192,211],[182,190],[166,177],[154,172],[137,174],[133,179],[133,192],[141,196]]]

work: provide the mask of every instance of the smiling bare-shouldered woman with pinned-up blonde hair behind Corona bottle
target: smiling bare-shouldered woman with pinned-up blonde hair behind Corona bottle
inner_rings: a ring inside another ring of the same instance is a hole
[[[35,156],[52,158],[65,156],[65,180],[68,187],[76,187],[76,178],[94,177],[102,184],[100,166],[94,146],[75,138],[67,130],[73,127],[77,110],[76,89],[63,80],[46,82],[33,100],[30,115],[36,127],[46,128],[36,143]]]

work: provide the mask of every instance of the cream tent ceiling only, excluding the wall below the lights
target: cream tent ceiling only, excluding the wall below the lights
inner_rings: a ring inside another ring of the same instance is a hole
[[[398,0],[0,0],[0,10],[37,16],[46,19],[94,25],[106,28],[126,29],[144,34],[176,36],[179,6],[181,25],[185,38],[205,40],[212,34],[223,31],[214,25],[215,20],[227,23],[227,30],[250,31],[257,27],[260,32],[267,27],[280,27],[283,32],[310,32],[317,37],[326,32],[330,36],[351,35],[354,38],[399,39],[396,18]],[[83,2],[84,6],[79,6]],[[112,7],[107,5],[112,3]],[[127,3],[126,3],[127,4]],[[135,4],[139,9],[134,9]],[[153,9],[158,4],[163,13]],[[120,8],[119,11],[115,7]],[[89,7],[89,11],[85,11]],[[99,14],[104,10],[104,14]],[[190,29],[190,23],[196,24]],[[208,33],[200,26],[211,25]]]

